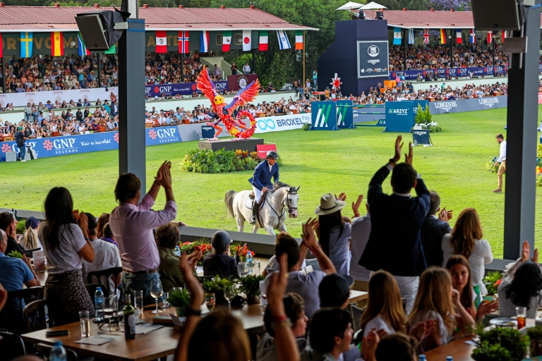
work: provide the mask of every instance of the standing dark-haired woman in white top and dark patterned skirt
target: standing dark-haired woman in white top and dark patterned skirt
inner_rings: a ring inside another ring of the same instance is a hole
[[[55,326],[77,322],[79,311],[95,310],[88,294],[81,265],[94,261],[94,249],[88,238],[88,218],[73,212],[73,200],[64,187],[49,191],[45,199],[46,221],[40,224],[39,237],[47,257],[49,276],[44,296]]]

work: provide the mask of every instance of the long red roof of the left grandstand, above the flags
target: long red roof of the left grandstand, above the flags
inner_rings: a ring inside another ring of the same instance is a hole
[[[0,31],[78,31],[75,16],[114,10],[68,6],[0,6]],[[139,8],[147,30],[318,30],[288,23],[258,8]]]

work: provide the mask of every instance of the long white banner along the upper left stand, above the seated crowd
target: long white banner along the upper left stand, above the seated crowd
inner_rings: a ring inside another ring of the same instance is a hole
[[[52,90],[50,92],[25,92],[25,93],[5,93],[0,94],[0,106],[4,107],[8,103],[13,103],[13,106],[25,106],[27,103],[35,103],[36,105],[47,104],[47,100],[50,100],[52,104],[56,100],[60,104],[62,102],[69,103],[71,100],[77,103],[79,99],[83,102],[88,99],[89,102],[95,102],[97,99],[107,100],[111,104],[111,93],[119,97],[119,88],[108,87],[105,90],[104,87],[97,87],[94,89],[74,89],[74,90]],[[192,93],[190,93],[192,94]]]

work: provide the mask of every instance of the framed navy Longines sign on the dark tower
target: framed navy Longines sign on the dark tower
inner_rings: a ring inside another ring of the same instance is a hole
[[[386,40],[358,41],[358,78],[390,75],[389,61]]]

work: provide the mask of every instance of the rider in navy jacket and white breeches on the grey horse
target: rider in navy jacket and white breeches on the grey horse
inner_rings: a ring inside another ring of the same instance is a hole
[[[262,194],[265,194],[267,190],[273,189],[271,178],[274,178],[275,183],[279,181],[279,164],[277,164],[277,159],[279,159],[279,154],[277,154],[277,152],[274,150],[267,152],[265,161],[256,166],[252,178],[248,179],[248,182],[251,183],[252,189],[254,190],[251,224],[256,224],[256,213],[258,212],[258,203],[260,202]]]

